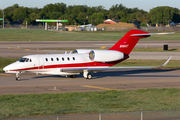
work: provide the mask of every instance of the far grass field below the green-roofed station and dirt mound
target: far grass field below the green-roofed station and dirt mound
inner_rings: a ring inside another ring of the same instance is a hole
[[[127,32],[127,31],[126,31]],[[54,32],[37,29],[0,29],[0,41],[118,41],[126,32],[80,31]],[[168,35],[153,35],[142,40],[179,40],[176,32]]]

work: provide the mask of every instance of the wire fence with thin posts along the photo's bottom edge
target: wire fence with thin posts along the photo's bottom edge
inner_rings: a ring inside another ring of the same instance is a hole
[[[34,113],[33,113],[34,114]],[[23,116],[23,113],[18,113],[20,117],[3,117],[1,120],[172,120],[180,119],[180,109],[178,110],[161,110],[161,111],[140,111],[128,113],[99,113],[99,114],[83,114],[69,115],[65,112],[59,112],[57,115],[49,116]],[[16,116],[16,115],[15,115]]]

